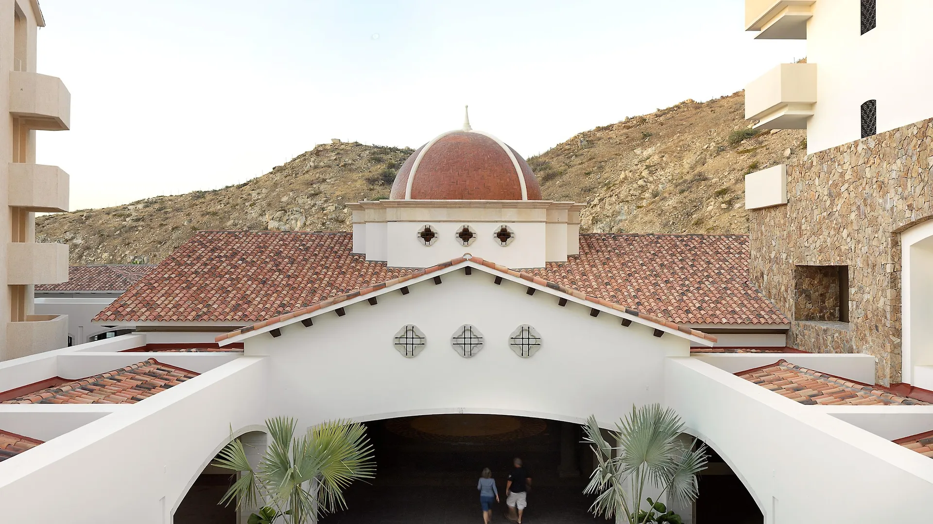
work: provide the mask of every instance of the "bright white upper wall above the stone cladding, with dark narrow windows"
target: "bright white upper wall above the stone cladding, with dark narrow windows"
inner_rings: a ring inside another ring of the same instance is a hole
[[[818,65],[813,153],[861,137],[860,106],[878,101],[878,131],[933,117],[933,2],[881,0],[876,27],[860,33],[859,3],[820,0],[807,24],[807,62]]]

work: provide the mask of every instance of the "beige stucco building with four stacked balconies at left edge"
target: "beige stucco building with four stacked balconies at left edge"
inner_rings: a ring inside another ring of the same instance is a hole
[[[35,40],[45,26],[36,0],[0,2],[0,360],[61,348],[67,343],[66,316],[35,315],[33,286],[68,280],[68,246],[35,242],[35,213],[68,208],[68,174],[35,163],[35,131],[70,127],[71,94],[62,80],[35,72]]]

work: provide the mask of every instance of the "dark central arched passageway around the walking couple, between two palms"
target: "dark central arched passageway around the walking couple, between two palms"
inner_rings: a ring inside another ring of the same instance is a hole
[[[579,425],[505,415],[425,415],[367,422],[377,476],[346,493],[348,510],[323,524],[482,522],[477,480],[493,470],[501,503],[494,521],[507,522],[506,477],[521,457],[532,476],[525,517],[535,524],[595,521],[583,487],[592,454]],[[599,519],[602,520],[602,519]]]

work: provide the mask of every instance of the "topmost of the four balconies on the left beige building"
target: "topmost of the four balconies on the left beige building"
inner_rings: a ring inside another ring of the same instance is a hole
[[[32,130],[65,131],[71,126],[71,93],[57,76],[10,71],[9,113]]]

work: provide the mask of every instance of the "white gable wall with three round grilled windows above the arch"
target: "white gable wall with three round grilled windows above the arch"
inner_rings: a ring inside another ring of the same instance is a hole
[[[246,338],[246,355],[271,355],[270,415],[299,418],[301,426],[336,418],[357,421],[428,413],[508,413],[563,421],[595,414],[618,420],[633,404],[661,402],[663,361],[687,356],[690,342],[673,334],[653,336],[644,324],[473,269],[411,285],[281,328],[282,336]],[[393,337],[405,324],[425,333],[423,352],[405,358]],[[485,338],[471,358],[453,351],[450,338],[473,324]],[[519,324],[534,326],[542,347],[521,358],[508,346]]]

